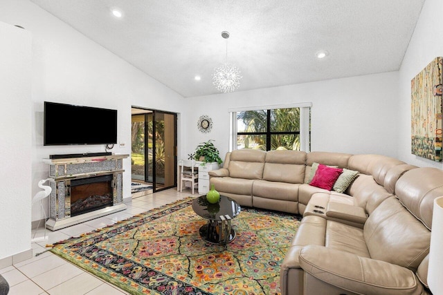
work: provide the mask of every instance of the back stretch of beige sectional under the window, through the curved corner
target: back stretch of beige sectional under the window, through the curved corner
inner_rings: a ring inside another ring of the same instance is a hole
[[[314,162],[356,170],[361,175],[345,193],[326,191],[305,183]],[[386,174],[394,166],[402,169],[388,175],[385,187]],[[217,191],[243,206],[303,215],[313,195],[319,193],[320,198],[355,204],[370,213],[382,200],[393,196],[399,175],[413,168],[382,155],[242,149],[227,153],[223,168],[209,175]],[[310,214],[316,213],[311,210]]]

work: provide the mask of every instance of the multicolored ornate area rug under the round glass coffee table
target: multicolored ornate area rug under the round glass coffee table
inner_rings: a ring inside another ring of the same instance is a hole
[[[280,294],[300,216],[242,208],[227,246],[204,242],[193,198],[70,238],[53,253],[129,294]]]

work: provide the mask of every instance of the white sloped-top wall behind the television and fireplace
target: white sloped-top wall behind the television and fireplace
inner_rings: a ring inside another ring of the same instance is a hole
[[[48,176],[43,158],[51,154],[105,151],[104,145],[43,146],[44,101],[118,110],[118,142],[114,153],[131,153],[131,106],[180,113],[181,95],[145,75],[123,59],[80,34],[28,0],[2,0],[0,21],[18,24],[33,36],[32,196]],[[179,130],[180,133],[180,130]],[[123,197],[130,198],[131,161],[124,160]],[[28,196],[29,201],[31,196]],[[47,204],[46,204],[47,206]],[[39,209],[33,208],[33,220]]]

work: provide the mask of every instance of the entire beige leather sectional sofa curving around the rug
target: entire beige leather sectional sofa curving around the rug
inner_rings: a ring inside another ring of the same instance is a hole
[[[359,171],[344,193],[305,183],[312,164]],[[443,171],[383,155],[238,150],[210,183],[239,204],[303,216],[282,294],[428,294],[433,199]]]

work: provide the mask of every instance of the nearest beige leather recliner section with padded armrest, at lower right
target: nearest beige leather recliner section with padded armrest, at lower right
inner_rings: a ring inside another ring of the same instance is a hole
[[[411,169],[395,195],[363,229],[305,216],[282,263],[282,295],[429,294],[433,200],[443,196],[443,171]]]

